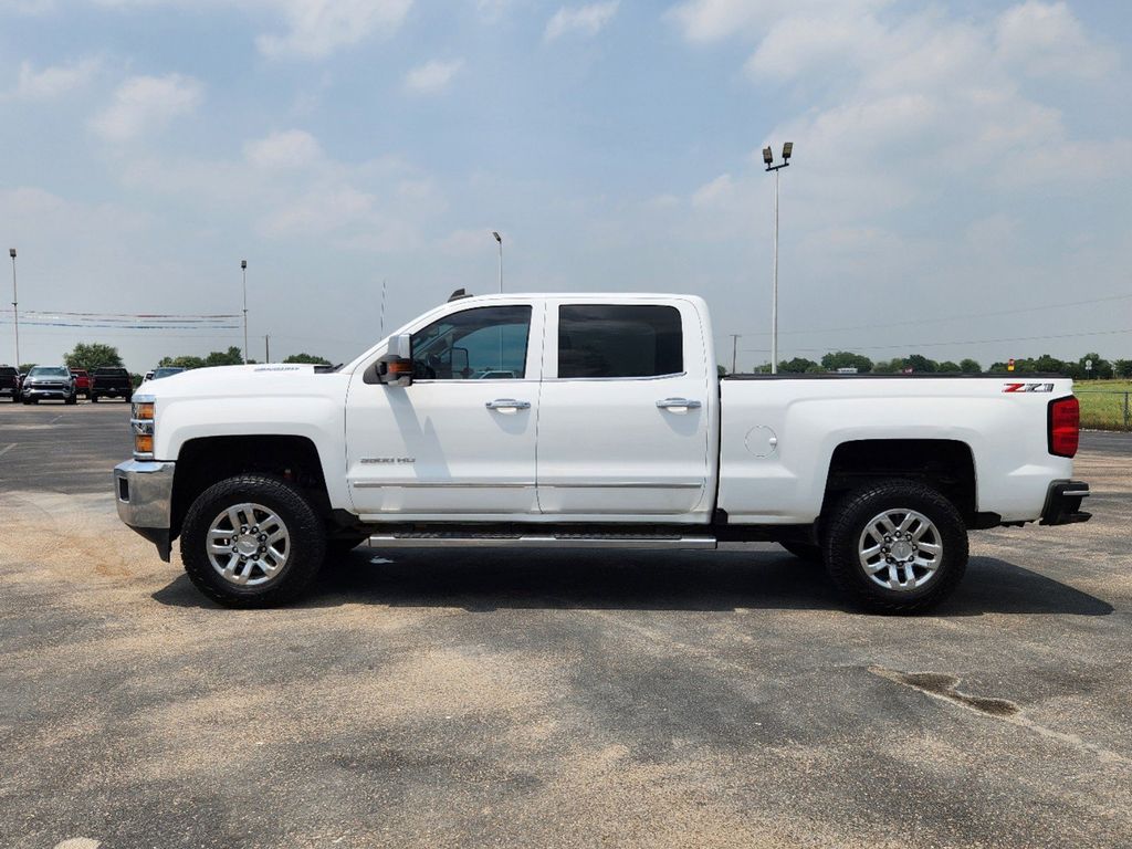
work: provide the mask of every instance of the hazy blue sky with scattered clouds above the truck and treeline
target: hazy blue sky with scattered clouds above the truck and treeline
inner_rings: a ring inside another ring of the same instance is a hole
[[[494,291],[499,230],[509,291],[702,294],[749,367],[758,151],[792,140],[783,358],[1132,358],[1130,22],[1035,0],[0,0],[0,241],[22,310],[237,312],[246,257],[252,355],[271,333],[273,359],[340,361],[378,338],[383,278],[386,329]],[[20,335],[25,361],[82,337],[136,370],[242,342]]]

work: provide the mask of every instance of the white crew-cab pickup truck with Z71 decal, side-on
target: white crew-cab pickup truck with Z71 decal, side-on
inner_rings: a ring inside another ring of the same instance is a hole
[[[1083,522],[1060,377],[720,377],[692,295],[462,291],[349,365],[134,396],[122,521],[233,607],[392,547],[780,542],[857,603],[945,598],[967,532]]]

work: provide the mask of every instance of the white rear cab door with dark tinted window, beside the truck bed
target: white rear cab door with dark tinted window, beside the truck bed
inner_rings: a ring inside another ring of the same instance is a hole
[[[538,491],[564,521],[706,521],[709,398],[689,301],[548,305]]]

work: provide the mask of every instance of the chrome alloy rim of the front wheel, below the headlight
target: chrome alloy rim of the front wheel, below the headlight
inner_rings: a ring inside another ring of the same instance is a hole
[[[208,525],[208,561],[239,586],[260,586],[275,577],[291,555],[291,535],[261,504],[237,504]]]

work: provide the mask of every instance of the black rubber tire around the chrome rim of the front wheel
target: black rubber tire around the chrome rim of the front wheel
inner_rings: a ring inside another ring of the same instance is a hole
[[[273,511],[288,531],[288,556],[280,572],[256,586],[239,586],[213,566],[208,531],[221,513],[235,505],[258,504]],[[181,528],[181,563],[200,592],[225,607],[285,604],[307,592],[326,558],[326,529],[299,487],[260,474],[241,474],[214,483],[189,507]]]

